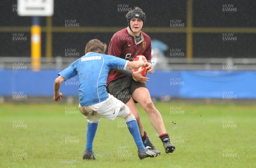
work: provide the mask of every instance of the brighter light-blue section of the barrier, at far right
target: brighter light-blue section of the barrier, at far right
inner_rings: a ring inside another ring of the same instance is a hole
[[[182,98],[256,98],[255,71],[182,71]]]

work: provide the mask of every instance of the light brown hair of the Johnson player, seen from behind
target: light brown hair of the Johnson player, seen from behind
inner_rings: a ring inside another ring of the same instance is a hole
[[[107,49],[107,44],[102,43],[98,39],[90,40],[86,46],[85,46],[85,54],[88,52],[97,52],[101,54],[105,54],[105,51]]]

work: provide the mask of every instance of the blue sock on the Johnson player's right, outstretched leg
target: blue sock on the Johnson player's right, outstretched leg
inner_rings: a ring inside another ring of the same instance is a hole
[[[139,126],[138,126],[137,120],[135,119],[134,115],[128,117],[127,119],[125,119],[125,121],[126,121],[126,124],[128,126],[128,129],[129,129],[131,135],[134,138],[137,148],[140,149],[141,151],[145,151],[146,148],[144,147],[142,139],[140,137]]]

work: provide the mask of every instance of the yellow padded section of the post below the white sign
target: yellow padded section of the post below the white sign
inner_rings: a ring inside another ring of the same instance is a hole
[[[39,71],[41,66],[41,26],[31,27],[31,58],[32,70]]]

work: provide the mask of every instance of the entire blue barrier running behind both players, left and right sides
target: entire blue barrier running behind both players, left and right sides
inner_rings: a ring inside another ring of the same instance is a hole
[[[0,96],[23,92],[28,96],[53,96],[53,83],[61,70],[0,70]],[[148,74],[151,97],[256,98],[256,71],[160,71]],[[61,84],[64,96],[78,96],[75,76]]]

